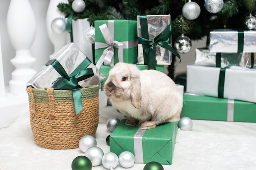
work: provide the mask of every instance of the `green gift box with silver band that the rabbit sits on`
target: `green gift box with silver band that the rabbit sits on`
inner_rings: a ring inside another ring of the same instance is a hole
[[[135,155],[135,163],[156,161],[171,165],[177,134],[177,122],[161,124],[153,129],[141,130],[125,125],[122,119],[110,135],[110,152],[119,155],[129,151]]]

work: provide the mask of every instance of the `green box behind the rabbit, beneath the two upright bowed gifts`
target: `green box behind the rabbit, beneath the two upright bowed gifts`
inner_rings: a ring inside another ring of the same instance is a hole
[[[148,70],[148,65],[139,65],[136,64],[137,68],[139,68],[139,70]],[[105,79],[103,79],[103,81],[101,82],[101,91],[103,91],[103,86],[104,83],[106,82],[106,80],[108,79],[108,72],[110,71],[111,68],[113,68],[114,66],[105,66],[102,65],[101,66],[101,73],[106,77]],[[156,70],[157,71],[161,71],[162,73],[164,73],[164,66],[163,65],[157,65],[156,66]]]

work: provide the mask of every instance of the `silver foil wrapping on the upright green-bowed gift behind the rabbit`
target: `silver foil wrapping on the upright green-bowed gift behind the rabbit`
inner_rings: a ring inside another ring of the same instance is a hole
[[[171,23],[171,15],[147,15],[148,35],[150,40],[159,35]],[[141,37],[141,25],[137,15],[138,37]],[[171,44],[170,44],[171,45]],[[158,65],[171,65],[171,52],[161,46],[155,46]],[[138,44],[138,64],[144,64],[142,44]]]

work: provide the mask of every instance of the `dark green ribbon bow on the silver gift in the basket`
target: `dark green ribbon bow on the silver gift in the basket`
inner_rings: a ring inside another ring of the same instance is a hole
[[[45,65],[52,65],[52,67],[63,77],[63,80],[60,80],[58,86],[55,89],[57,90],[72,90],[73,98],[74,98],[74,106],[76,115],[83,110],[82,104],[82,88],[78,82],[87,79],[89,77],[94,76],[92,68],[87,68],[91,64],[91,61],[88,58],[85,58],[79,66],[75,68],[70,75],[67,75],[63,66],[58,62],[58,60],[49,60]]]

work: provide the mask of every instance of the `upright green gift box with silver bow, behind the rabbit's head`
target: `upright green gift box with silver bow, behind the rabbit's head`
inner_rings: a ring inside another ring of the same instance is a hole
[[[102,63],[106,66],[117,62],[137,63],[137,21],[96,20],[94,26],[97,68]]]

